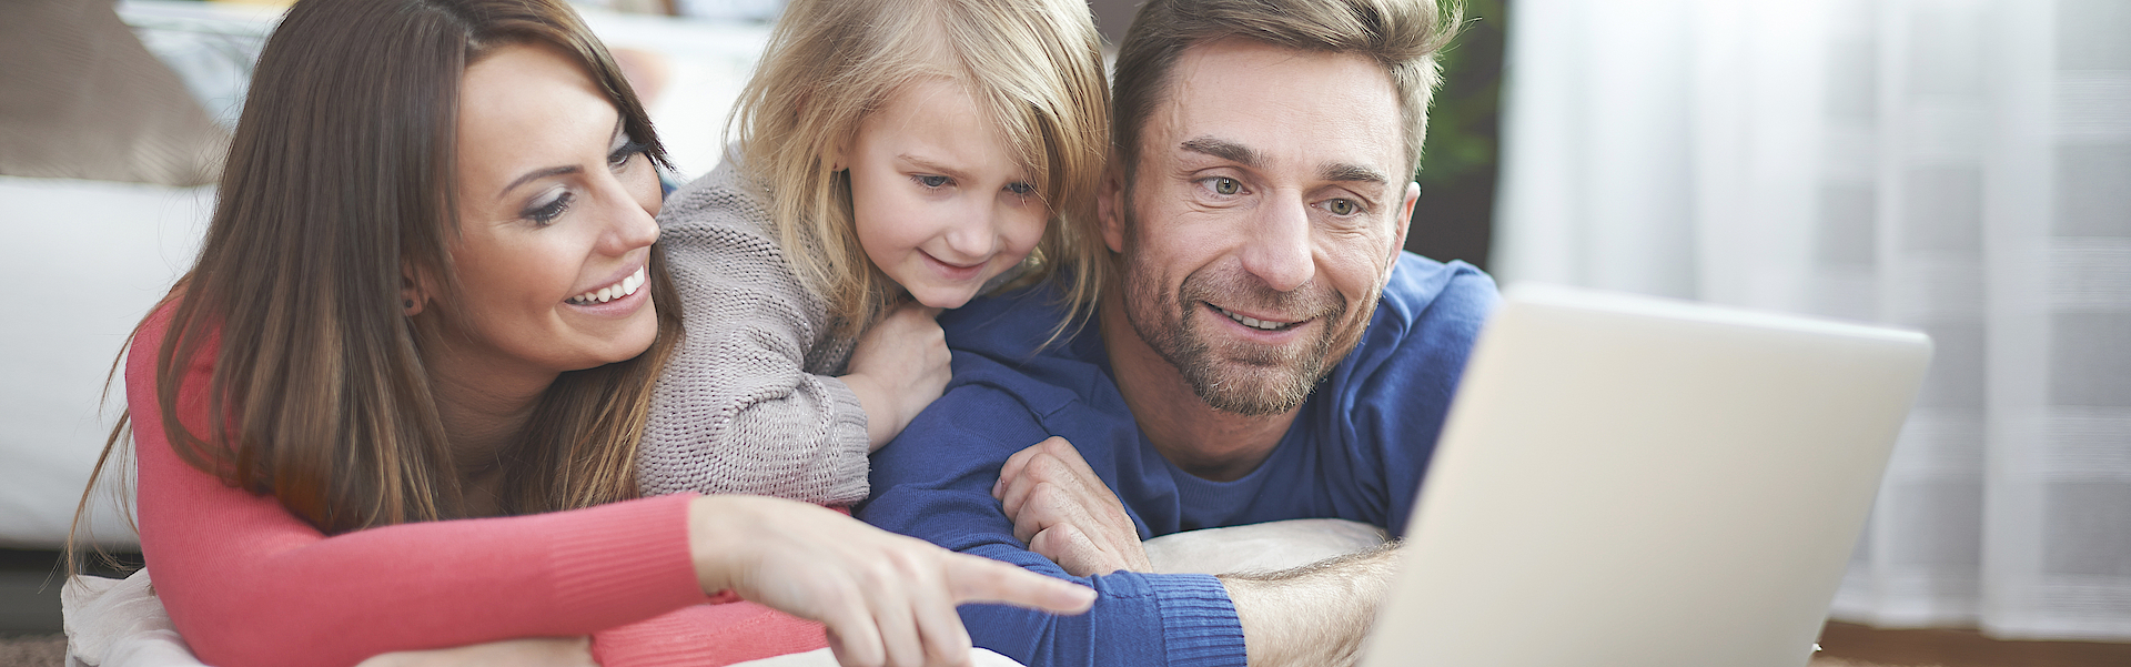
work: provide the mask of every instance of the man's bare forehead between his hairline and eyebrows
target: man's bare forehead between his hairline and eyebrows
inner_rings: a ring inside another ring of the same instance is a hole
[[[1357,53],[1227,38],[1185,49],[1146,117],[1142,147],[1308,170],[1396,173],[1404,160],[1398,94]],[[1392,177],[1404,183],[1402,177]]]

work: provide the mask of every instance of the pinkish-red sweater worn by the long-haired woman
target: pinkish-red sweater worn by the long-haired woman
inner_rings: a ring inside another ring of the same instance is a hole
[[[326,537],[273,497],[224,486],[185,465],[162,430],[151,360],[170,311],[141,328],[126,401],[141,552],[200,661],[354,665],[392,650],[560,635],[592,635],[607,667],[729,665],[827,646],[816,622],[699,590],[686,494]],[[179,388],[194,433],[207,433],[211,373],[213,352],[200,354]]]

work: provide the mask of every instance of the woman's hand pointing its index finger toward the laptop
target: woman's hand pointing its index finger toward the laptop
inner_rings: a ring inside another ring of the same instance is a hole
[[[837,663],[855,667],[967,665],[961,603],[1057,614],[1095,603],[1085,586],[769,497],[695,499],[688,541],[705,592],[818,620]]]

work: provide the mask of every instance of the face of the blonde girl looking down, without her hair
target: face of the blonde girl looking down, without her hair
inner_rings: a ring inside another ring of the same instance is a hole
[[[897,90],[835,162],[850,168],[865,256],[923,305],[970,303],[1044,234],[1042,194],[955,81]]]

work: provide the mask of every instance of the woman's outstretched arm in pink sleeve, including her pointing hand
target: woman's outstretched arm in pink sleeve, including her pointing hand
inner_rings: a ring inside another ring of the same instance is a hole
[[[136,352],[160,339],[158,326],[143,330]],[[394,650],[592,633],[601,656],[682,652],[686,663],[735,656],[733,646],[688,639],[705,633],[825,646],[820,627],[754,605],[644,624],[707,601],[705,590],[825,620],[846,656],[950,656],[967,652],[957,603],[1059,612],[1091,603],[1085,588],[761,497],[658,497],[326,537],[275,499],[224,486],[170,450],[151,358],[136,354],[126,373],[141,550],[173,624],[213,665],[354,665]],[[209,373],[202,356],[177,401],[196,433]],[[609,667],[622,663],[631,661]],[[959,661],[942,665],[950,663]]]

